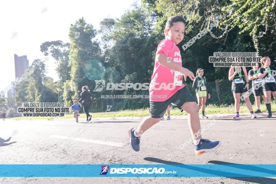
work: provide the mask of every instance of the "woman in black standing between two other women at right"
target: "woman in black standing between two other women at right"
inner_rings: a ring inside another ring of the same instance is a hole
[[[261,105],[261,96],[263,98],[263,101],[265,101],[265,97],[263,95],[263,87],[262,87],[262,83],[263,80],[259,79],[258,77],[258,64],[257,66],[252,66],[252,70],[249,70],[248,72],[248,79],[252,80],[252,92],[254,94],[255,97],[255,103],[257,106],[257,111],[255,111],[254,113],[261,113],[260,110],[260,105]]]

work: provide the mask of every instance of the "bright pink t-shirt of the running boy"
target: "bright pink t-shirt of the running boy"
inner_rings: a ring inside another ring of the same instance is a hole
[[[182,59],[180,55],[180,50],[170,39],[162,40],[157,46],[156,55],[159,51],[162,51],[167,57],[171,58],[171,62],[176,62],[182,66]],[[155,57],[156,57],[155,55]],[[178,90],[182,89],[185,85],[174,86],[174,70],[160,65],[155,59],[153,74],[151,77],[150,91],[150,101],[153,102],[163,102],[170,97],[172,97]],[[156,84],[159,83],[159,84]],[[168,86],[168,89],[164,89],[164,84]],[[155,84],[155,85],[154,85]],[[162,87],[161,87],[162,85]],[[159,89],[158,89],[159,88]]]

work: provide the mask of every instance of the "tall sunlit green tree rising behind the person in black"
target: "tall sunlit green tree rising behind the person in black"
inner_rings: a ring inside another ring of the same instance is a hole
[[[83,17],[70,26],[69,66],[71,67],[71,79],[63,84],[63,88],[66,90],[63,93],[63,98],[67,104],[71,104],[72,100],[80,97],[82,86],[93,86],[93,80],[100,78],[97,74],[102,75],[104,71],[104,66],[100,62],[100,46],[97,41],[93,40],[96,35],[96,29],[93,28],[93,25],[87,24]],[[87,72],[90,75],[83,79]],[[80,81],[80,79],[82,80]],[[71,94],[73,95],[71,96]]]

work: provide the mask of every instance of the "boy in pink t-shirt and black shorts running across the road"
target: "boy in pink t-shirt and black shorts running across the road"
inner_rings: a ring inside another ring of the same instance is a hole
[[[179,76],[181,78],[181,75],[184,75],[185,81],[187,77],[191,80],[195,78],[193,72],[182,67],[180,50],[176,46],[183,40],[185,24],[186,22],[180,16],[173,16],[167,20],[164,29],[166,39],[162,40],[157,47],[151,78],[151,84],[153,85],[149,88],[150,116],[144,118],[137,129],[130,127],[128,130],[130,147],[135,151],[140,150],[141,134],[160,121],[170,103],[188,113],[188,125],[194,138],[196,155],[213,151],[220,146],[220,141],[211,142],[208,139],[202,139],[201,134],[196,134],[200,131],[197,103],[182,82],[181,84],[178,82],[174,83],[174,78],[178,79]],[[181,74],[179,75],[179,73]],[[163,84],[165,86],[174,84],[174,86],[170,89],[167,87],[167,90],[160,89],[161,87],[156,90],[158,86],[164,86]]]

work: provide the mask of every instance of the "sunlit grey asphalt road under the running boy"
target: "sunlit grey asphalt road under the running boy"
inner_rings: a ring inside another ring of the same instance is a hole
[[[204,127],[211,119],[201,120]],[[84,121],[83,121],[84,122]],[[187,120],[164,120],[130,149],[128,128],[140,120],[0,120],[1,164],[276,164],[276,119],[216,119],[203,134],[221,146],[195,155],[179,149],[190,135]],[[76,138],[64,140],[81,128]],[[11,137],[11,138],[10,138]],[[9,139],[10,138],[10,139]],[[56,149],[62,145],[61,149]],[[0,183],[276,183],[266,177],[0,177]]]

